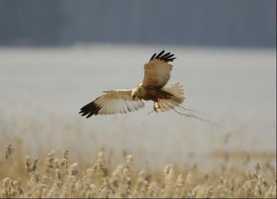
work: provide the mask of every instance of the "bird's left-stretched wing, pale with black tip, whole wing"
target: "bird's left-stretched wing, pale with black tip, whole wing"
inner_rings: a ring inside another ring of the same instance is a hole
[[[96,98],[93,102],[83,106],[79,113],[87,115],[111,115],[137,111],[144,107],[141,99],[132,99],[132,89],[105,91],[104,95]]]

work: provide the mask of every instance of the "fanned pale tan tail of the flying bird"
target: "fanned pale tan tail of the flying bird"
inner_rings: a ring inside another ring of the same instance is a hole
[[[154,111],[169,111],[177,106],[180,106],[184,102],[185,92],[183,84],[177,83],[172,86],[161,88],[161,90],[170,93],[171,96],[166,99],[158,99],[158,102],[154,102]]]

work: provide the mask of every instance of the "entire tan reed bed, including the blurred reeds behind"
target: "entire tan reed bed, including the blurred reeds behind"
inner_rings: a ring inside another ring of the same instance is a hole
[[[8,122],[4,118],[1,198],[276,198],[276,153],[230,150],[234,140],[229,133],[221,141],[214,140],[221,147],[211,153],[200,157],[197,151],[173,154],[174,162],[161,165],[155,155],[132,155],[132,150],[122,146],[121,154],[108,145],[97,151],[97,147],[78,148],[69,142],[69,150],[61,149],[62,140],[74,138],[72,142],[84,143],[78,136],[80,129],[76,130],[78,123],[56,126],[57,135],[51,133],[55,123],[35,118],[30,122],[27,117],[24,122]],[[39,131],[43,133],[37,135]],[[120,130],[115,133],[125,136]],[[93,136],[88,142],[93,145],[99,139]],[[52,146],[56,151],[49,150]]]

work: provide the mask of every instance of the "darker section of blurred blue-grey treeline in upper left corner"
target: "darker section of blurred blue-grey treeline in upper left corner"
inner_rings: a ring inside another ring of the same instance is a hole
[[[0,45],[59,44],[62,6],[62,1],[0,0]]]

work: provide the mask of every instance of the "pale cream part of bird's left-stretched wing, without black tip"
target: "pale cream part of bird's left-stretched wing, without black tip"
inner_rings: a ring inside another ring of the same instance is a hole
[[[144,107],[141,99],[132,99],[132,89],[106,91],[105,93],[94,101],[96,106],[100,107],[98,111],[100,115],[127,113]]]

